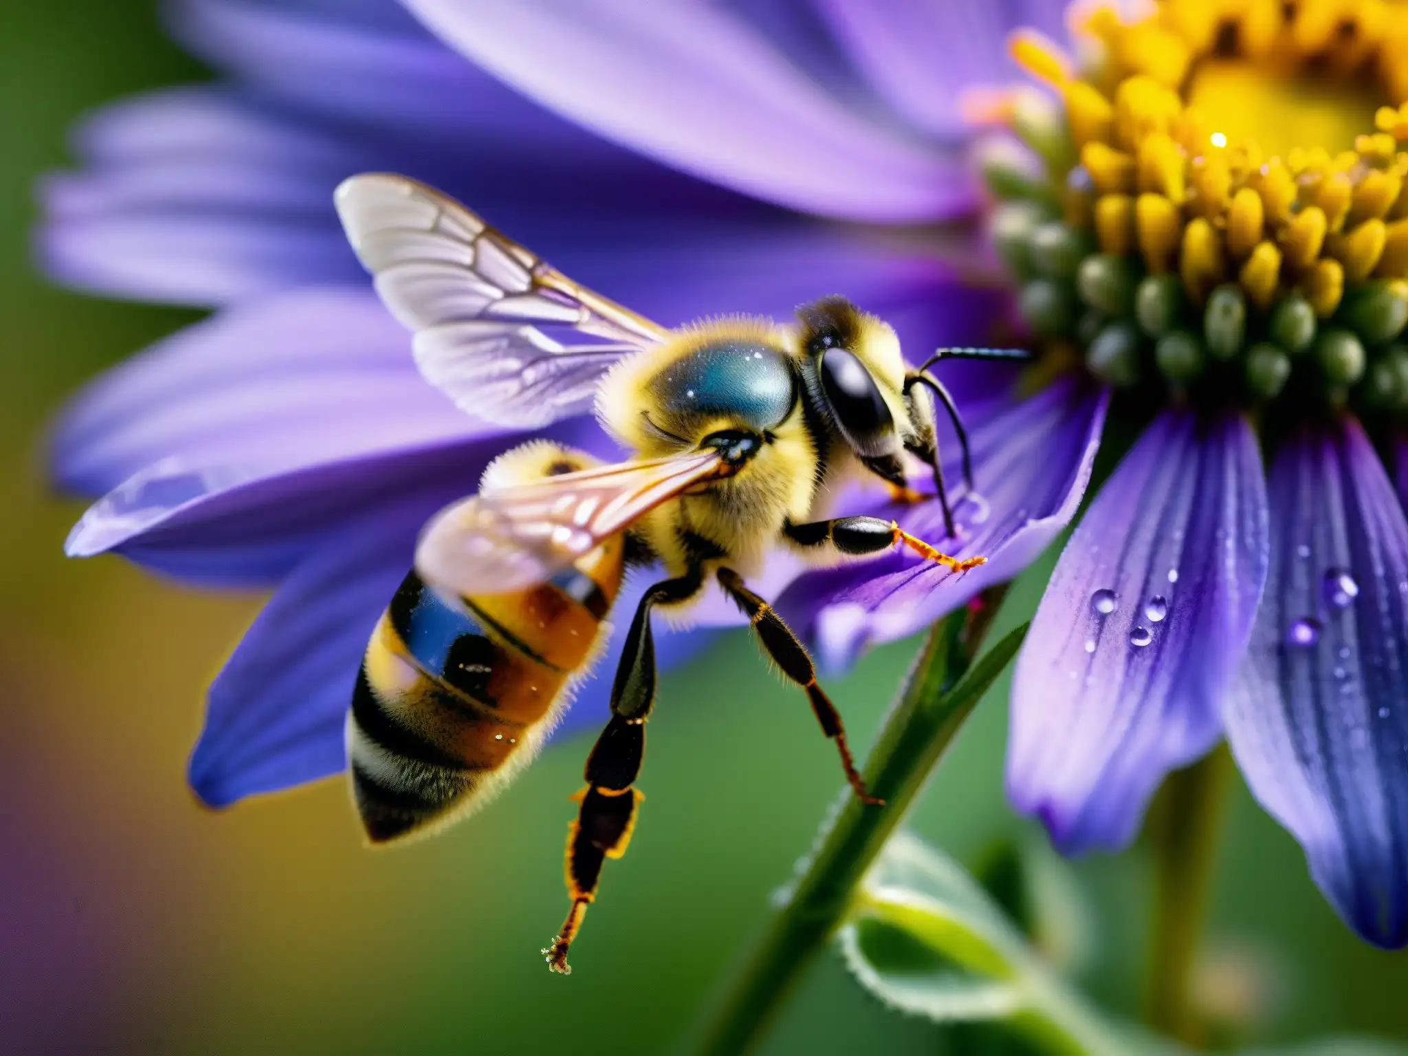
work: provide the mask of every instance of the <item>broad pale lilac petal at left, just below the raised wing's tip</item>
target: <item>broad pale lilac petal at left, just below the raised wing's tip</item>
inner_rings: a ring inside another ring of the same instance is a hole
[[[90,384],[59,420],[63,487],[103,494],[175,460],[242,476],[472,439],[489,427],[431,389],[370,290],[307,289],[230,308]]]

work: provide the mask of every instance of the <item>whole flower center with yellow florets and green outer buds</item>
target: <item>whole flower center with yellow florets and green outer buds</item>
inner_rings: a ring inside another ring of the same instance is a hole
[[[1059,101],[967,100],[1025,145],[980,162],[1039,346],[1122,389],[1408,414],[1408,4],[1164,0],[1077,39],[1012,39]]]

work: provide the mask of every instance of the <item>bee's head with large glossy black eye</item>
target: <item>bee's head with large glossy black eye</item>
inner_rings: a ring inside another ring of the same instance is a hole
[[[866,466],[904,484],[900,455],[914,434],[904,358],[890,324],[843,297],[797,310],[807,400]]]

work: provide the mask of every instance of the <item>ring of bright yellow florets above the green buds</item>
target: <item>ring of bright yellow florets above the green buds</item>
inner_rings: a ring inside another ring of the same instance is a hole
[[[1012,51],[1052,83],[1091,187],[1066,193],[1067,222],[1094,225],[1107,253],[1138,249],[1153,273],[1176,270],[1202,301],[1235,273],[1262,308],[1300,289],[1316,314],[1346,282],[1408,276],[1408,103],[1380,107],[1354,149],[1266,156],[1228,142],[1184,104],[1194,63],[1222,46],[1295,68],[1312,59],[1342,76],[1376,69],[1390,97],[1408,96],[1408,8],[1383,3],[1239,4],[1174,0],[1135,24],[1110,8],[1086,15],[1098,59],[1084,76],[1032,35]],[[1395,14],[1397,18],[1391,18]],[[1350,28],[1352,27],[1352,28]],[[1390,37],[1390,34],[1393,34]],[[1328,58],[1326,58],[1328,56]]]

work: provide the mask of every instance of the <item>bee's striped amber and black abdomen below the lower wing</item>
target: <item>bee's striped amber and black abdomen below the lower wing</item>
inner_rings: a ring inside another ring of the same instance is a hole
[[[621,546],[603,549],[615,560],[597,551],[589,567],[612,573],[604,584],[569,569],[518,594],[446,600],[406,577],[367,642],[348,718],[352,790],[373,842],[445,818],[531,753],[620,583]]]

